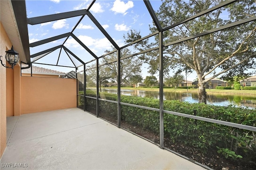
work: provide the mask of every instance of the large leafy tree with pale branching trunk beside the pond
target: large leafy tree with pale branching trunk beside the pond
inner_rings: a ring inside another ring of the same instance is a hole
[[[156,16],[161,26],[166,28],[222,2],[223,0],[165,0],[156,12]],[[255,0],[234,2],[164,31],[163,42],[167,44],[255,16]],[[157,31],[154,26],[149,29],[152,33]],[[164,71],[167,73],[170,69],[180,69],[184,65],[194,70],[198,76],[199,103],[206,103],[206,82],[220,75],[233,77],[234,75],[243,75],[250,68],[255,69],[255,32],[256,22],[254,20],[164,47]],[[131,30],[124,38],[127,43],[139,39],[141,38],[140,31]],[[158,36],[154,42],[144,40],[136,43],[135,47],[143,51],[157,44],[159,44]],[[150,65],[150,73],[156,73],[159,70],[157,50],[146,53],[142,59]]]

